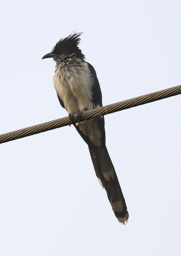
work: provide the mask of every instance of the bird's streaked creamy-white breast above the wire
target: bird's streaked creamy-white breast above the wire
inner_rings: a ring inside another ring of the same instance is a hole
[[[76,60],[55,71],[54,85],[68,113],[92,109],[92,77],[86,62]]]

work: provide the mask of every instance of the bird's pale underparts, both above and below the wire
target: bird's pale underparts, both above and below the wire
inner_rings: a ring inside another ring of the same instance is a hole
[[[66,70],[65,67],[64,70],[55,72],[55,90],[68,113],[78,113],[82,109],[94,108],[91,92],[92,79],[87,76],[89,72],[86,67],[83,70],[76,72],[76,70],[71,70],[70,67]],[[82,121],[76,125],[80,127],[80,130],[85,136],[89,137],[96,147],[101,146],[101,131],[96,119]]]

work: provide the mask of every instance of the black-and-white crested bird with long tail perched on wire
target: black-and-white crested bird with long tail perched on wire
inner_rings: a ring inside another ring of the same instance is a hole
[[[106,148],[104,116],[81,121],[82,113],[103,106],[96,71],[85,61],[85,55],[79,48],[81,35],[73,32],[61,38],[42,60],[53,58],[55,61],[54,86],[59,102],[68,112],[71,121],[73,115],[77,114],[78,122],[73,125],[89,147],[96,176],[106,190],[117,220],[126,224],[129,213]]]

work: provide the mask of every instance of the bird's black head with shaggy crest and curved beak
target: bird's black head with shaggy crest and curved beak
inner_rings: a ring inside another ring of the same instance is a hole
[[[59,62],[64,61],[70,56],[74,56],[75,58],[84,60],[85,56],[78,48],[78,44],[80,42],[80,35],[82,35],[82,33],[73,33],[66,38],[61,38],[61,40],[59,40],[59,42],[55,44],[52,51],[43,56],[42,60],[46,58],[54,58],[56,62]]]

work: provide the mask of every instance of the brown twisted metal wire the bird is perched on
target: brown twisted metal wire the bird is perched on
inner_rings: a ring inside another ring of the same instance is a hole
[[[114,113],[114,112],[121,111],[128,108],[133,108],[136,106],[147,104],[149,102],[154,102],[156,100],[172,97],[178,94],[181,94],[181,85],[164,89],[158,92],[142,95],[136,98],[123,100],[123,101],[113,103],[107,106],[103,106],[100,108],[95,108],[95,109],[85,111],[85,113],[83,113],[81,116],[81,121],[87,120],[96,116],[108,115],[110,113]],[[78,118],[77,118],[77,115],[75,114],[73,115],[73,123],[76,123],[76,122],[78,122]],[[43,124],[33,125],[31,127],[26,127],[24,129],[20,129],[17,131],[1,134],[0,143],[5,143],[11,140],[17,140],[20,138],[24,138],[26,136],[31,136],[33,134],[38,134],[40,132],[46,132],[46,131],[60,128],[70,124],[71,124],[71,121],[69,120],[69,117],[66,116],[63,118],[45,122]]]

